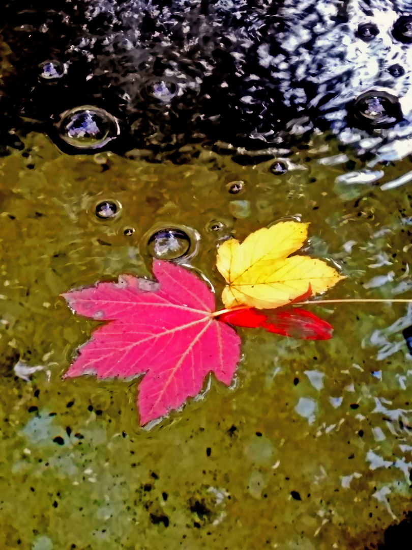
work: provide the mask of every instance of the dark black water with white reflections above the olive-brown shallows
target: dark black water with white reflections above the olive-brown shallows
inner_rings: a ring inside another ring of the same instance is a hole
[[[222,140],[279,154],[321,129],[398,160],[412,152],[411,13],[410,0],[8,0],[3,147],[35,128],[66,152],[179,159]]]

